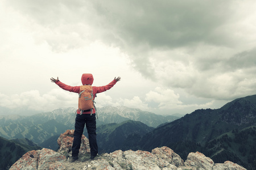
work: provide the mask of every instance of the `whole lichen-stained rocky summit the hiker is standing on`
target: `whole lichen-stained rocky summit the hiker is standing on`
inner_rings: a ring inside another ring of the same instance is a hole
[[[71,146],[73,142],[74,130],[67,130],[61,134],[57,140],[59,150],[53,151],[47,148],[42,150],[29,151],[14,163],[10,170],[22,169],[245,169],[242,166],[226,161],[224,163],[214,163],[200,152],[191,152],[187,160],[183,160],[171,148],[160,147],[148,151],[121,151],[117,150],[110,154],[98,155],[90,160],[89,141],[83,135],[80,148],[79,160],[71,162]]]

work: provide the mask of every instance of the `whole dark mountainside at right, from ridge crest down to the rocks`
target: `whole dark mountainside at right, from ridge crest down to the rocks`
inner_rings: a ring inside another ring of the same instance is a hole
[[[241,97],[220,109],[198,109],[144,135],[142,150],[172,148],[184,158],[201,151],[218,162],[231,160],[246,168],[256,167],[256,95]],[[221,158],[222,157],[222,158]]]

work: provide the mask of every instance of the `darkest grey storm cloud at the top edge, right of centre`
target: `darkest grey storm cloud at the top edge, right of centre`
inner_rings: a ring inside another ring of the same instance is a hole
[[[98,15],[130,45],[175,48],[198,42],[225,44],[217,40],[219,25],[232,15],[230,1],[94,1]]]

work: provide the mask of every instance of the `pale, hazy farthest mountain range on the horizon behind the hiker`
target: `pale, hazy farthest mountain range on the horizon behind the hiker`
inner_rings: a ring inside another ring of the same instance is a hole
[[[52,112],[33,116],[0,116],[0,136],[6,139],[27,138],[39,144],[54,135],[60,135],[67,129],[74,129],[75,108],[56,109]],[[171,122],[179,117],[161,116],[126,107],[98,108],[97,126],[134,120],[152,127]]]

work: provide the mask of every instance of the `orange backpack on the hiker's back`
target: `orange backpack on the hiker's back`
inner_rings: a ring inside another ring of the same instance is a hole
[[[92,114],[94,104],[93,104],[93,89],[90,85],[80,86],[79,92],[79,110],[82,112],[89,110]]]

